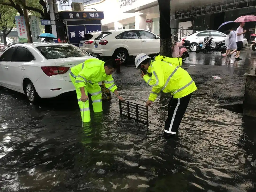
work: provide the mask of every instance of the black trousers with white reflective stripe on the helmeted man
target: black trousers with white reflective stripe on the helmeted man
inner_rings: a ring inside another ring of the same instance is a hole
[[[164,131],[169,134],[176,134],[180,122],[185,114],[192,93],[189,95],[174,99],[172,98],[168,104],[168,118],[165,121]]]

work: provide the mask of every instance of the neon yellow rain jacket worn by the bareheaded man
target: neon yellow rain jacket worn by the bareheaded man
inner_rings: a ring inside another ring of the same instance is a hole
[[[72,67],[71,72],[76,76],[76,87],[85,87],[87,83],[94,84],[104,81],[106,88],[114,92],[117,86],[112,75],[105,73],[104,63],[104,61],[92,58]]]

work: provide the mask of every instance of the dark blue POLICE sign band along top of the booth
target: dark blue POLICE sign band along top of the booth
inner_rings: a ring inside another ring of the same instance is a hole
[[[61,11],[55,15],[55,19],[104,19],[103,11],[91,11],[91,12],[74,12],[74,11]]]

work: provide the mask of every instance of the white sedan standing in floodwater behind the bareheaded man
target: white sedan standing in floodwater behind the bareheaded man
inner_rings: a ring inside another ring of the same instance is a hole
[[[31,103],[74,91],[70,68],[93,58],[71,44],[27,43],[0,57],[0,86],[24,93]]]

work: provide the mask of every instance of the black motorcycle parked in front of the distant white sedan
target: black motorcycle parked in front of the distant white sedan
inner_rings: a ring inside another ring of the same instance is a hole
[[[226,52],[226,49],[227,49],[227,46],[224,46],[225,45],[225,40],[222,40],[222,41],[218,41],[218,42],[215,42],[215,47],[212,47],[211,44],[212,44],[212,37],[205,37],[204,38],[204,41],[205,41],[205,48],[202,50],[202,52],[204,54],[208,53],[208,52],[214,52],[214,51],[217,51],[216,54],[218,52],[221,52],[221,53],[225,53]]]

